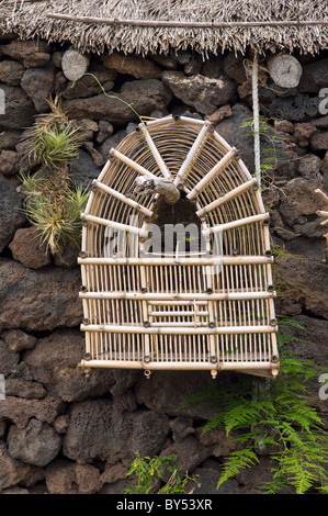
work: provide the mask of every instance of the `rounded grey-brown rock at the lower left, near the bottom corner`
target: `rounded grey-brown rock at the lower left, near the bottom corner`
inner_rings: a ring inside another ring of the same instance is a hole
[[[47,423],[31,419],[26,428],[12,425],[8,434],[8,451],[22,462],[44,468],[58,455],[61,438]]]

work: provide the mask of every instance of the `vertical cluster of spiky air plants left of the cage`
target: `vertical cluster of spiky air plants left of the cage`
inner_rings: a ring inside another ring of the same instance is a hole
[[[39,115],[25,136],[27,156],[39,169],[21,175],[21,181],[24,212],[55,255],[66,244],[79,245],[88,191],[73,188],[68,171],[82,143],[79,128],[63,112],[58,97],[48,103],[50,112]]]

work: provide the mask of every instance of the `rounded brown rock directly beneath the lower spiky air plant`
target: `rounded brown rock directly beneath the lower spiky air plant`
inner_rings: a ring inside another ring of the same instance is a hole
[[[15,260],[31,269],[41,269],[52,263],[46,244],[41,243],[34,227],[18,229],[9,248]]]

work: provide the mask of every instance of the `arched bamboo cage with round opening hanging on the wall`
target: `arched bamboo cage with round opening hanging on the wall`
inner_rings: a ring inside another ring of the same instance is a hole
[[[268,222],[257,179],[211,123],[140,123],[82,214],[80,366],[275,377]]]

